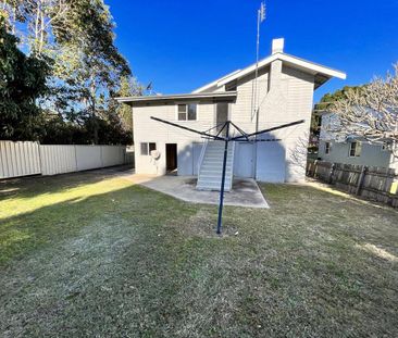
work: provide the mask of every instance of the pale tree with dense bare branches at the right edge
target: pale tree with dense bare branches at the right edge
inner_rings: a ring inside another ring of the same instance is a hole
[[[358,137],[385,143],[398,157],[398,64],[395,73],[347,90],[327,108],[335,116],[329,132],[337,137]]]

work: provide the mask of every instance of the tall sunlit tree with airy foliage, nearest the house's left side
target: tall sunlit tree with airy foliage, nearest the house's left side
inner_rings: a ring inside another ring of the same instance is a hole
[[[110,121],[107,114],[111,113],[108,111],[111,98],[121,77],[129,76],[130,70],[114,46],[114,23],[103,1],[69,0],[67,3],[70,10],[62,23],[54,20],[54,38],[63,51],[55,59],[55,75],[70,92],[69,105],[76,108],[77,118],[88,122],[92,142],[98,143],[99,122]]]

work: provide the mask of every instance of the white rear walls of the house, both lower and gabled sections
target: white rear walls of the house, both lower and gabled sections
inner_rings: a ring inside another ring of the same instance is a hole
[[[237,83],[237,99],[231,103],[231,120],[247,133],[256,130],[256,116],[252,114],[252,85],[253,76],[239,79]],[[270,85],[269,85],[270,84]],[[279,138],[278,152],[271,146],[260,146],[259,150],[265,152],[260,154],[260,160],[268,159],[279,163],[281,175],[275,173],[276,168],[270,170],[264,166],[263,161],[258,161],[260,167],[257,172],[258,179],[268,180],[266,173],[270,173],[270,180],[286,181],[303,180],[306,176],[306,157],[299,161],[295,157],[298,151],[306,151],[311,121],[312,99],[314,89],[314,76],[282,65],[282,61],[275,61],[270,68],[261,70],[258,78],[258,102],[259,102],[259,129],[304,120],[301,125],[282,129],[264,137]],[[192,142],[201,142],[200,136],[190,132],[162,124],[150,120],[150,116],[160,117],[175,122],[198,130],[207,130],[215,125],[215,103],[201,102],[198,104],[198,121],[177,121],[176,103],[157,103],[133,108],[134,116],[134,140],[136,145],[136,172],[138,174],[165,174],[165,143],[177,143],[178,151],[178,174],[196,175],[194,164]],[[153,160],[150,155],[140,154],[140,142],[157,142],[157,149],[161,155]],[[285,154],[282,165],[281,154]],[[239,160],[238,158],[236,159]],[[271,174],[272,173],[272,174]],[[275,178],[277,176],[277,178]]]

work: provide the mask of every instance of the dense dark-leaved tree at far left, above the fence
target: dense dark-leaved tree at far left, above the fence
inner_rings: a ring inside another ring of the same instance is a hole
[[[7,33],[3,18],[0,25],[0,139],[36,140],[41,133],[36,101],[48,90],[50,67],[17,48],[18,39]]]

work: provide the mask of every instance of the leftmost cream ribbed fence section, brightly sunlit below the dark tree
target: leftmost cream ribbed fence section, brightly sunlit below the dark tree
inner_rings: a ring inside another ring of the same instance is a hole
[[[0,178],[40,173],[39,143],[0,141]]]

